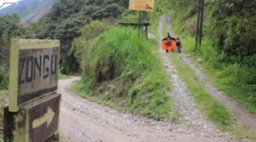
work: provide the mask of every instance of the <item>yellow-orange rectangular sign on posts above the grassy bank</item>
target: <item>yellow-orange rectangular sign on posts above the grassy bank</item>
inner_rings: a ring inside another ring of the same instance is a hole
[[[129,9],[153,12],[154,11],[154,0],[130,0]]]

